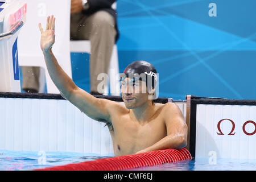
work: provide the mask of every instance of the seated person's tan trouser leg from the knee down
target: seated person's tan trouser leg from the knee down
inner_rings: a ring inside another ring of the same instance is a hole
[[[98,11],[91,18],[90,90],[91,92],[99,92],[97,86],[101,80],[97,80],[97,77],[100,73],[108,75],[116,31],[114,18],[106,11]]]

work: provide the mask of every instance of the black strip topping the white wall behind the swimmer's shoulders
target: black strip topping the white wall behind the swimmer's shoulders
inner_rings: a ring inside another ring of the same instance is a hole
[[[121,96],[101,96],[93,95],[97,98],[106,98],[108,100],[123,102]],[[20,93],[20,92],[0,92],[0,98],[40,98],[40,99],[54,99],[54,100],[65,100],[60,94],[52,93]],[[154,102],[166,104],[168,97],[159,97]]]

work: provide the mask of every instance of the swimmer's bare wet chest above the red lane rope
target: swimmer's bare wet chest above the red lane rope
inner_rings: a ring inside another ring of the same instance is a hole
[[[166,125],[160,117],[143,123],[120,117],[118,121],[113,121],[113,129],[115,155],[134,154],[152,146],[167,135]]]

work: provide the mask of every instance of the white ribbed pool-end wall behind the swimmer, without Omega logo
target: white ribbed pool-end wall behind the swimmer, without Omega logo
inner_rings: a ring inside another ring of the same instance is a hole
[[[105,123],[67,100],[0,98],[0,114],[0,149],[113,154]]]

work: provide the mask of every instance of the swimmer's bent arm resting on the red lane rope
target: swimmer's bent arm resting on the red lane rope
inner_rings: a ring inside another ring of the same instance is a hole
[[[180,149],[187,146],[187,124],[179,107],[174,103],[167,103],[163,109],[164,122],[166,123],[167,136],[144,150],[138,151],[149,152],[155,150],[164,150],[168,148]]]

